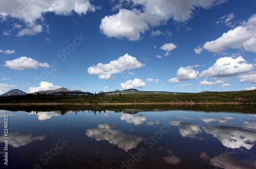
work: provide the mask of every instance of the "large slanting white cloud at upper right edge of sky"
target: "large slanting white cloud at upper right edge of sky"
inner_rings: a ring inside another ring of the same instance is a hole
[[[228,48],[256,53],[256,14],[251,15],[247,22],[242,22],[241,26],[229,30],[218,39],[206,42],[203,48],[214,53],[222,53]]]

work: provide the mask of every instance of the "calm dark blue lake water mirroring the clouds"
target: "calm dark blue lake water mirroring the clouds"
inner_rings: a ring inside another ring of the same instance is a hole
[[[4,108],[0,110],[0,166],[256,168],[254,108],[229,107],[225,111],[214,107],[203,111],[173,107],[165,111]],[[8,114],[8,151],[4,150],[5,114]],[[8,166],[3,160],[6,152]]]

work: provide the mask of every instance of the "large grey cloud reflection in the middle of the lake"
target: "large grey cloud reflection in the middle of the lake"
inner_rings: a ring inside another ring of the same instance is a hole
[[[87,129],[86,135],[95,138],[97,141],[108,140],[111,144],[116,144],[118,148],[125,152],[136,148],[143,138],[131,134],[125,134],[119,130],[113,130],[115,124],[98,124],[98,129]]]

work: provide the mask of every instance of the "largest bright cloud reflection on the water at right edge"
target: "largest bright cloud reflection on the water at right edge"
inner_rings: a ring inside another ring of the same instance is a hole
[[[254,130],[249,130],[244,127],[233,126],[217,126],[217,127],[203,127],[203,130],[218,138],[223,146],[231,149],[238,149],[244,147],[250,150],[253,142],[256,141],[256,134]]]

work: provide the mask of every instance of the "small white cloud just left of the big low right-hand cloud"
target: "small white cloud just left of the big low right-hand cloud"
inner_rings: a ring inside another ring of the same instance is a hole
[[[193,67],[199,67],[199,65],[180,67],[177,71],[177,78],[169,79],[170,83],[177,83],[186,80],[197,79],[199,71],[193,69]]]

